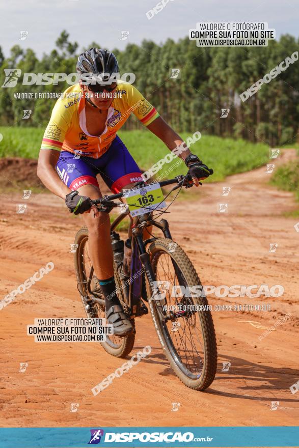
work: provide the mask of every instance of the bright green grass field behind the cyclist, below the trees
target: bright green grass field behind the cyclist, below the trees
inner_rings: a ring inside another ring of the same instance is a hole
[[[37,158],[44,129],[0,127],[3,140],[0,142],[0,157],[28,157]],[[168,154],[166,146],[149,131],[134,130],[120,131],[123,140],[134,159],[143,170],[148,170],[159,159]],[[182,133],[186,139],[192,133]],[[268,147],[264,144],[253,144],[242,139],[221,138],[203,135],[201,139],[190,147],[209,167],[214,175],[207,181],[221,181],[226,176],[253,170],[268,161]],[[157,173],[164,179],[186,173],[184,164],[178,166],[171,173],[167,170],[176,160],[166,163]]]

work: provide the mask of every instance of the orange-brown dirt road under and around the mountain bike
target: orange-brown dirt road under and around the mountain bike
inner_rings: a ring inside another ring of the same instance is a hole
[[[282,160],[293,156],[289,150]],[[28,337],[26,325],[34,318],[84,316],[69,253],[81,218],[44,193],[33,194],[28,211],[16,214],[16,204],[25,202],[20,192],[4,194],[1,297],[46,263],[55,268],[0,311],[1,426],[295,425],[299,393],[292,395],[289,387],[299,379],[299,233],[293,227],[299,219],[283,216],[296,207],[292,194],[270,187],[268,179],[261,167],[204,185],[199,199],[177,201],[167,216],[174,239],[204,285],[284,287],[283,296],[276,298],[208,299],[213,305],[267,303],[271,311],[213,312],[219,368],[204,393],[188,389],[173,375],[150,316],[137,320],[132,353],[150,345],[151,354],[96,397],[91,388],[122,360],[96,343],[38,344]],[[224,197],[226,186],[231,191]],[[228,204],[227,213],[217,211],[219,203]],[[269,252],[273,243],[277,249]],[[265,331],[258,324],[269,328],[287,313],[287,322],[258,339]],[[25,372],[19,372],[21,362],[28,363]],[[222,371],[223,362],[231,363],[229,371]],[[176,412],[174,402],[180,403]],[[271,402],[279,402],[278,408]],[[79,404],[77,412],[70,412],[71,403]]]

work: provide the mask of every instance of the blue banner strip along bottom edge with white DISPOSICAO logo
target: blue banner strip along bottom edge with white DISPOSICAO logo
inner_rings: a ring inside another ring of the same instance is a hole
[[[299,446],[299,427],[0,428],[0,448]]]

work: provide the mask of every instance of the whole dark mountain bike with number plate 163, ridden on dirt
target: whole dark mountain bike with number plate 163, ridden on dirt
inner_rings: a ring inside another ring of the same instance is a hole
[[[176,185],[165,198],[161,198],[161,187],[172,184]],[[133,325],[131,334],[124,337],[110,335],[101,345],[111,355],[125,358],[134,345],[135,319],[148,313],[147,302],[158,339],[172,370],[186,386],[204,390],[212,383],[217,367],[211,312],[192,262],[179,244],[173,241],[167,220],[157,221],[157,217],[169,213],[168,207],[161,210],[159,204],[165,208],[166,204],[162,201],[172,191],[179,189],[174,201],[182,187],[192,185],[187,176],[180,175],[151,184],[151,187],[139,183],[130,190],[105,195],[92,200],[92,203],[102,211],[123,208],[111,225],[111,238],[117,294]],[[126,198],[126,205],[116,202],[122,198]],[[123,272],[124,241],[116,232],[126,217],[130,219],[132,250],[129,275]],[[153,227],[161,231],[161,237],[152,235]],[[151,238],[145,239],[144,229],[148,230],[147,236]],[[74,254],[78,290],[85,311],[89,317],[105,318],[104,296],[88,253],[87,228],[78,231],[75,243],[78,244]]]

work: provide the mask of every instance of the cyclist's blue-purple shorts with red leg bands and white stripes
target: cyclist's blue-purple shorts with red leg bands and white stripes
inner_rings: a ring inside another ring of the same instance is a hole
[[[71,190],[88,184],[99,187],[97,174],[114,193],[143,180],[137,163],[118,135],[98,159],[84,155],[77,157],[77,154],[62,151],[56,165],[59,176]]]

